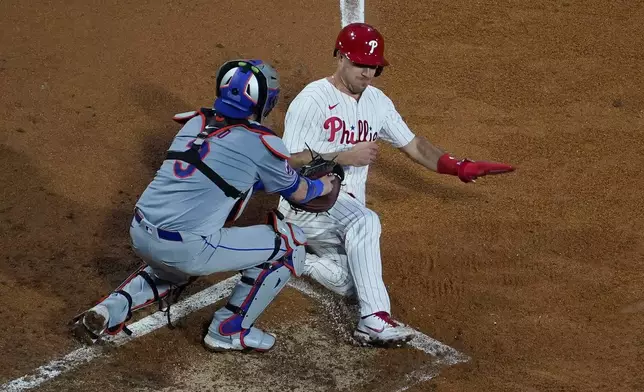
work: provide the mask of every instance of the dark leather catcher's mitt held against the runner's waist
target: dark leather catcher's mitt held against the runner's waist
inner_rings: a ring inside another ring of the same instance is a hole
[[[338,195],[340,194],[340,186],[344,181],[344,169],[335,160],[326,160],[320,154],[313,155],[311,151],[311,161],[302,166],[299,170],[301,176],[308,177],[312,180],[333,174],[335,178],[331,181],[333,190],[324,196],[316,197],[309,200],[307,203],[297,203],[293,200],[287,200],[291,208],[295,211],[306,211],[312,213],[327,212],[333,207]]]

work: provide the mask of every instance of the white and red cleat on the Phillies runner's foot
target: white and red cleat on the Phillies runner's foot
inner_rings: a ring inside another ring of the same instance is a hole
[[[392,320],[387,312],[360,318],[353,337],[362,345],[402,347],[413,338],[413,331]]]

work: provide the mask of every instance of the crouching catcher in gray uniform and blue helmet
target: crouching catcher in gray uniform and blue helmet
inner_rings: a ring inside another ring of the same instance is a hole
[[[340,187],[333,175],[312,180],[293,170],[282,140],[261,125],[279,93],[270,65],[229,61],[217,73],[213,109],[175,116],[184,125],[137,201],[130,227],[133,249],[146,265],[74,319],[77,337],[91,344],[127,331],[132,311],[155,303],[169,307],[173,293],[195,277],[241,271],[203,343],[215,351],[273,347],[275,337],[253,323],[291,274],[301,274],[306,238],[276,211],[265,225],[224,225],[240,216],[258,184],[304,208],[309,202],[320,208],[319,201],[337,197]]]

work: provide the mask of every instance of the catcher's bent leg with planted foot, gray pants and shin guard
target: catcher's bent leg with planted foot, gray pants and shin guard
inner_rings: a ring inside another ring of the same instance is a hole
[[[228,303],[218,309],[204,337],[211,350],[266,351],[275,337],[253,326],[255,320],[284,288],[291,274],[300,275],[306,237],[297,226],[269,214],[269,224],[231,227],[197,241],[183,235],[182,245],[194,252],[181,252],[167,243],[146,246],[139,252],[190,276],[216,272],[241,271],[242,278],[233,288]],[[155,238],[154,228],[151,229]],[[140,231],[137,233],[141,233]],[[137,241],[134,241],[135,245]],[[189,245],[194,242],[193,245]]]

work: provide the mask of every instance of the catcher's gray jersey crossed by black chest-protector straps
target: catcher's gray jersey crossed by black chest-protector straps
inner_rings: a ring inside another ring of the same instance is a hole
[[[187,150],[201,131],[202,121],[200,116],[189,120],[170,150]],[[277,150],[287,151],[279,138],[272,138],[272,143],[275,139]],[[241,192],[261,180],[267,193],[275,193],[290,188],[298,179],[288,161],[271,152],[260,134],[242,126],[209,137],[201,148],[201,157]],[[223,227],[235,201],[194,166],[165,160],[136,206],[159,228],[209,235]]]

